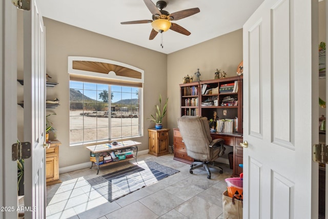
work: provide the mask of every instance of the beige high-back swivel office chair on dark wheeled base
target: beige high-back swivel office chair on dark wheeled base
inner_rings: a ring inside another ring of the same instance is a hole
[[[188,156],[194,158],[190,165],[189,172],[192,174],[194,169],[203,167],[207,171],[207,178],[211,178],[210,167],[215,167],[223,173],[223,169],[218,166],[215,160],[224,154],[221,138],[212,140],[210,126],[207,117],[200,116],[182,116],[177,119],[178,127],[185,142]]]

